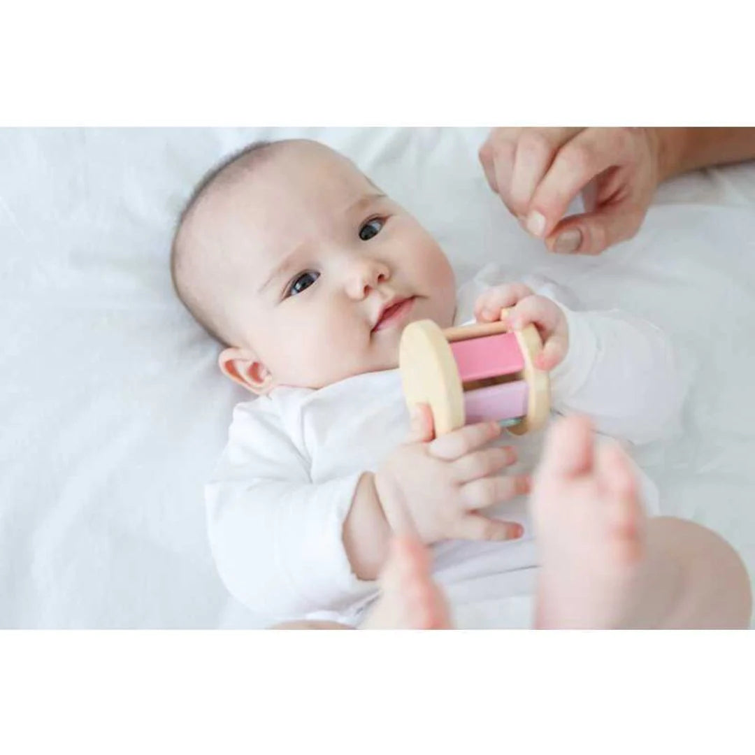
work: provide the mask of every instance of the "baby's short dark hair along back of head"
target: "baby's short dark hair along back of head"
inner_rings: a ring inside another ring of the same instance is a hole
[[[252,160],[254,160],[253,156],[262,156],[262,154],[266,153],[270,147],[279,143],[281,142],[254,142],[242,149],[236,150],[236,152],[221,160],[217,165],[214,165],[194,187],[191,196],[186,200],[186,204],[183,205],[183,209],[180,211],[175,226],[173,242],[171,244],[171,280],[173,281],[174,291],[183,306],[186,307],[193,318],[196,319],[196,322],[199,322],[199,325],[202,325],[202,328],[205,328],[205,331],[207,331],[216,341],[219,341],[220,344],[223,344],[223,346],[229,346],[230,344],[228,344],[227,339],[220,334],[221,328],[217,322],[217,318],[208,311],[208,308],[205,307],[195,295],[193,295],[190,286],[187,285],[184,280],[185,276],[182,275],[186,248],[186,243],[182,238],[183,227],[186,223],[186,219],[190,217],[196,206],[202,201],[202,198],[206,196],[214,184],[224,177],[225,174],[233,171],[233,168],[236,166],[241,167],[243,165],[243,167],[248,168]]]

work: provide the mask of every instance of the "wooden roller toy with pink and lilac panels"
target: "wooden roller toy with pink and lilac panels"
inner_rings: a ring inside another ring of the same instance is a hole
[[[506,312],[507,310],[504,310]],[[436,435],[495,420],[522,435],[550,411],[550,380],[535,367],[543,348],[535,325],[510,331],[505,322],[443,330],[432,320],[404,328],[399,368],[411,408],[428,404]]]

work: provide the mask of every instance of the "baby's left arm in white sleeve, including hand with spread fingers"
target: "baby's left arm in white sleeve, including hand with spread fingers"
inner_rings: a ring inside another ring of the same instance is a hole
[[[307,461],[271,408],[236,408],[230,438],[206,485],[217,571],[236,599],[282,620],[341,611],[374,596],[392,532],[425,543],[445,538],[505,540],[519,525],[477,510],[529,488],[498,476],[511,448],[485,448],[501,428],[469,425],[433,442],[429,412],[417,437],[375,473],[313,483]]]

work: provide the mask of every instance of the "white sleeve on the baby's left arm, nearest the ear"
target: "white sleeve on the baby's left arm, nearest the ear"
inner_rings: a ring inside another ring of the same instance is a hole
[[[359,476],[313,484],[274,408],[237,406],[205,486],[211,550],[230,593],[276,620],[345,609],[374,593],[351,572],[342,541]]]

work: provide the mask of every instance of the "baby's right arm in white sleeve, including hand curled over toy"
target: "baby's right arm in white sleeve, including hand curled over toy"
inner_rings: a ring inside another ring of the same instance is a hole
[[[683,395],[663,332],[619,310],[580,311],[565,300],[574,297],[562,287],[523,276],[480,295],[476,316],[495,319],[485,308],[513,307],[517,327],[535,323],[545,341],[538,366],[550,370],[554,411],[587,414],[599,432],[634,443],[661,436]]]

